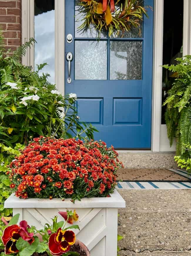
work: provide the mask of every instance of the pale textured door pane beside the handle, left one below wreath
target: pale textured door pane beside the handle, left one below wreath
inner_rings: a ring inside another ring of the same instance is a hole
[[[75,41],[75,79],[107,79],[107,41]]]

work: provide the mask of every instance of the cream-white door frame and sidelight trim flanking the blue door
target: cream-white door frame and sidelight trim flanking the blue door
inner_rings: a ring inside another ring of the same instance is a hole
[[[65,0],[55,0],[55,81],[58,90],[64,94],[65,70]],[[174,151],[170,148],[166,125],[161,125],[162,97],[162,50],[163,50],[164,0],[154,0],[153,31],[153,97],[151,151]],[[184,0],[183,55],[191,53],[191,1]],[[22,43],[34,37],[34,0],[22,0]],[[22,59],[23,64],[34,66],[34,48]]]

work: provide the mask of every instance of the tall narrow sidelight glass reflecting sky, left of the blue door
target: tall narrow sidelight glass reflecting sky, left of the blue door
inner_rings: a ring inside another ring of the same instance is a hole
[[[47,63],[39,74],[48,73],[48,80],[55,83],[55,11],[54,1],[34,1],[35,70],[37,64]]]

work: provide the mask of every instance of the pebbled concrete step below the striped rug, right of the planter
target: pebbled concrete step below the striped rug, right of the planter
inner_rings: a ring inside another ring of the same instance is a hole
[[[120,256],[191,256],[191,190],[118,190]]]

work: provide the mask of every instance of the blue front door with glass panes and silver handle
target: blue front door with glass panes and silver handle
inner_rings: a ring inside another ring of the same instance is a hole
[[[144,5],[153,7],[153,0]],[[73,36],[65,41],[65,54],[73,53],[71,83],[65,63],[65,93],[77,94],[78,116],[98,129],[96,140],[116,149],[150,149],[153,11],[140,29],[99,40],[94,30],[78,31],[80,15],[75,0],[65,0],[65,38]]]

